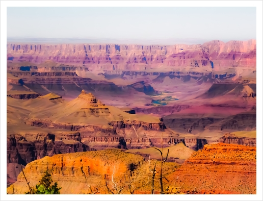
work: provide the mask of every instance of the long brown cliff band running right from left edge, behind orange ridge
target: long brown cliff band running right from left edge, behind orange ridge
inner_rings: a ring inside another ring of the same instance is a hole
[[[207,141],[205,139],[163,138],[163,146],[183,142],[186,146],[198,150]],[[126,138],[119,136],[96,137],[87,132],[60,131],[54,134],[10,135],[7,138],[7,163],[26,165],[45,156],[102,150],[105,148],[146,148],[161,147],[161,138]]]

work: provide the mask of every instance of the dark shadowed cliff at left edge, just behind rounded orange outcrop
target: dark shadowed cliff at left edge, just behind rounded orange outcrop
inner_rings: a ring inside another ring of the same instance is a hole
[[[36,159],[56,154],[86,152],[89,146],[81,143],[80,133],[25,134],[7,137],[7,163],[26,165]]]

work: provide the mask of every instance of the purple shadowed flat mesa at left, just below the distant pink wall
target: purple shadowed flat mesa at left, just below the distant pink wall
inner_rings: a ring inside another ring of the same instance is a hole
[[[63,94],[69,91],[81,91],[82,89],[88,91],[121,91],[121,88],[112,82],[82,78],[77,76],[76,72],[50,71],[51,67],[44,68],[40,72],[10,71],[16,78],[16,80],[11,79],[11,83],[24,85],[38,93],[52,91]]]

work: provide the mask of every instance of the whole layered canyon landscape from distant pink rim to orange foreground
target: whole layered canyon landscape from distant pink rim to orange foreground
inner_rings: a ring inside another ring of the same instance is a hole
[[[174,172],[179,172],[193,182],[182,189],[184,193],[203,185],[199,177],[191,180],[187,169],[195,177],[198,171],[213,175],[215,182],[220,174],[231,179],[217,168],[227,169],[234,178],[249,176],[240,179],[242,185],[236,180],[236,188],[224,179],[220,188],[198,193],[255,193],[255,163],[248,157],[256,150],[255,40],[198,45],[7,44],[8,191],[23,193],[27,188],[21,188],[20,165],[36,183],[46,168],[35,168],[40,161],[63,169],[65,160],[74,163],[80,158],[86,168],[96,157],[98,166],[107,164],[103,157],[116,153],[130,158],[120,162],[116,175],[126,181],[129,171],[148,169],[149,157],[160,160],[152,147],[173,150],[165,165],[167,179],[174,181]],[[228,158],[214,161],[212,153]],[[238,154],[248,162],[243,164]],[[89,182],[92,188],[101,186],[112,172],[111,165],[107,170],[101,167],[102,174],[92,168],[87,173],[82,162],[77,164],[71,164],[73,173],[56,168],[52,173],[54,180],[65,182],[63,193],[67,180],[72,183],[67,177],[75,172],[85,189]],[[238,169],[243,164],[242,176],[230,164]],[[101,192],[107,193],[104,187]],[[137,193],[149,191],[148,186]],[[124,192],[129,193],[126,187]],[[71,193],[88,191],[77,188]]]

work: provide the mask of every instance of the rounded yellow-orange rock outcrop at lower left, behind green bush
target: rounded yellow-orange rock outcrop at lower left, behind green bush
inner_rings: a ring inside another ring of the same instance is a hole
[[[24,173],[33,186],[41,179],[41,174],[49,169],[51,176],[62,187],[61,194],[87,194],[88,184],[98,185],[101,194],[108,194],[105,182],[114,178],[118,181],[128,181],[135,169],[144,164],[143,157],[121,152],[120,150],[102,150],[96,152],[62,154],[45,157],[29,163]],[[116,164],[116,165],[114,165]],[[144,173],[144,172],[143,172]],[[18,175],[17,182],[8,188],[8,193],[23,194],[28,190],[22,172]],[[68,184],[71,184],[68,188]],[[72,188],[74,184],[75,188]],[[13,191],[13,192],[12,192]],[[128,192],[127,189],[123,190]]]

